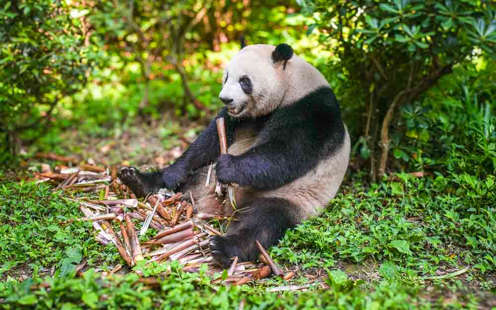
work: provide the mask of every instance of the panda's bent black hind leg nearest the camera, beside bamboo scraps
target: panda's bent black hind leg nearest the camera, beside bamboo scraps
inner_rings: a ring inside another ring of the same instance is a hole
[[[212,256],[223,267],[228,267],[235,256],[239,261],[255,260],[259,254],[255,240],[269,248],[301,221],[298,206],[286,199],[254,198],[238,208],[242,212],[231,221],[227,236],[210,237]]]

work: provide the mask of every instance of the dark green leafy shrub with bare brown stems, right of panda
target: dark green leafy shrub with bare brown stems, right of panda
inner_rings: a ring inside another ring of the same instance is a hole
[[[350,82],[340,95],[356,100],[361,94],[355,107],[368,109],[362,122],[366,125],[353,129],[361,135],[362,154],[371,158],[373,181],[376,174],[386,172],[389,126],[396,109],[402,104],[416,106],[413,100],[456,64],[481,53],[496,55],[496,11],[491,1],[301,3],[311,17],[310,30],[320,30],[319,41],[334,51],[333,64]]]

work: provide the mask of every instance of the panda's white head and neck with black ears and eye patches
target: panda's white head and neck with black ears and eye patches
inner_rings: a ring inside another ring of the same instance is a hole
[[[323,76],[287,44],[249,45],[229,62],[219,98],[235,118],[257,118],[302,98]]]

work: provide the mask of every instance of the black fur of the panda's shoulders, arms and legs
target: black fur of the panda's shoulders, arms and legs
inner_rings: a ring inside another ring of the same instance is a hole
[[[219,117],[225,119],[228,146],[236,142],[238,131],[247,127],[256,134],[255,145],[239,156],[220,155],[215,123]],[[305,176],[340,149],[346,134],[336,97],[324,86],[292,105],[255,119],[233,118],[223,108],[168,168],[149,174],[124,168],[119,177],[139,196],[162,187],[185,192],[199,183],[195,178],[199,169],[217,162],[217,180],[236,183],[250,192],[238,205],[245,211],[236,213],[237,220],[231,222],[227,236],[210,238],[214,259],[228,266],[234,256],[240,261],[255,259],[255,240],[265,248],[273,246],[288,228],[306,217],[290,200],[264,193]]]

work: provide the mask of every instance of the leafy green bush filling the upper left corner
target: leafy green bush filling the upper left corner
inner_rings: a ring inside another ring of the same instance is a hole
[[[85,85],[101,54],[85,42],[84,12],[64,1],[2,3],[0,162],[7,152],[15,153],[20,138],[45,133],[53,110]]]

